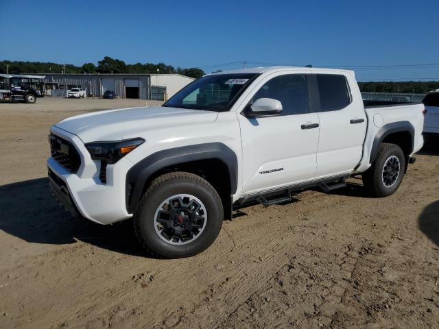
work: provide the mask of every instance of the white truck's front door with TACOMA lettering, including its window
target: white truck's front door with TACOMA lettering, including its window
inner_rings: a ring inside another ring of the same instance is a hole
[[[312,108],[310,111],[307,75],[275,73],[254,90],[250,103],[259,98],[277,99],[283,111],[276,117],[238,114],[244,194],[311,180],[317,168],[319,119]]]

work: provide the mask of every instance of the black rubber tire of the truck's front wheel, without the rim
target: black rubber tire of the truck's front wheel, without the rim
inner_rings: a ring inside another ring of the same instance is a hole
[[[206,226],[200,236],[184,245],[172,245],[158,235],[154,228],[156,211],[164,200],[179,194],[189,194],[200,199],[207,212]],[[193,173],[177,171],[156,178],[139,202],[134,213],[134,232],[141,245],[152,256],[183,258],[203,252],[219,234],[224,221],[224,210],[215,188]]]

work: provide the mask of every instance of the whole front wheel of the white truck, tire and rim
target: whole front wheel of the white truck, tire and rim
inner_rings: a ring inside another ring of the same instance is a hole
[[[224,220],[215,188],[198,175],[161,175],[147,188],[134,213],[134,231],[150,254],[182,258],[215,241]]]

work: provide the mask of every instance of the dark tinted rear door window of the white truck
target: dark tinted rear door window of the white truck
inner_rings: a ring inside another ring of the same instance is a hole
[[[351,103],[348,84],[344,75],[318,74],[320,112],[336,111]]]

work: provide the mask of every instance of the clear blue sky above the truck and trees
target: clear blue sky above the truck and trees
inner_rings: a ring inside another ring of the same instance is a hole
[[[242,61],[385,65],[354,69],[360,80],[439,80],[438,0],[0,0],[0,8],[0,60],[83,64],[111,56],[206,72]]]

